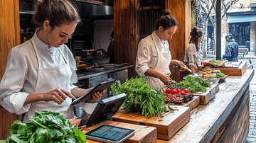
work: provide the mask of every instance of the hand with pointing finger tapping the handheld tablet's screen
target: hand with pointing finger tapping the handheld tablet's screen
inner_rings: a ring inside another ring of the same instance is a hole
[[[63,103],[67,96],[75,100],[75,97],[72,96],[68,91],[65,91],[63,88],[55,88],[53,91],[43,93],[42,96],[43,101],[55,101],[58,104]]]

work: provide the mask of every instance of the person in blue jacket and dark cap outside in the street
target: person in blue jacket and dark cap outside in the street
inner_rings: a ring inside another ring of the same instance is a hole
[[[223,55],[223,59],[228,59],[229,62],[238,62],[238,43],[235,42],[231,33],[228,33],[225,36],[225,40],[228,43],[225,47],[225,55]]]

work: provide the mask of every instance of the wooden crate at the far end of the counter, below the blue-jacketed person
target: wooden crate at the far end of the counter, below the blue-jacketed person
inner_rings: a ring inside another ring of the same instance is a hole
[[[200,67],[200,71],[202,71],[204,67]],[[221,72],[225,75],[229,76],[242,76],[247,69],[247,62],[241,62],[239,67],[230,68],[230,67],[213,67],[212,69],[220,69]]]

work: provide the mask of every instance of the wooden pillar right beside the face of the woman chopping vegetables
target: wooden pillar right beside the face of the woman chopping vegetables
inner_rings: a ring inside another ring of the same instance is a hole
[[[172,59],[183,62],[185,47],[188,45],[188,36],[191,31],[191,1],[190,0],[166,0],[165,8],[171,11],[178,21],[178,29],[173,38],[169,40]],[[179,69],[170,67],[171,79],[179,81]]]

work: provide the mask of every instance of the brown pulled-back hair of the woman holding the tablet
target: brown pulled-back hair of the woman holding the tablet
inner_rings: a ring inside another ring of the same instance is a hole
[[[42,28],[44,21],[49,21],[53,30],[56,26],[80,23],[81,19],[73,1],[38,0],[34,6],[33,23],[38,28]]]

